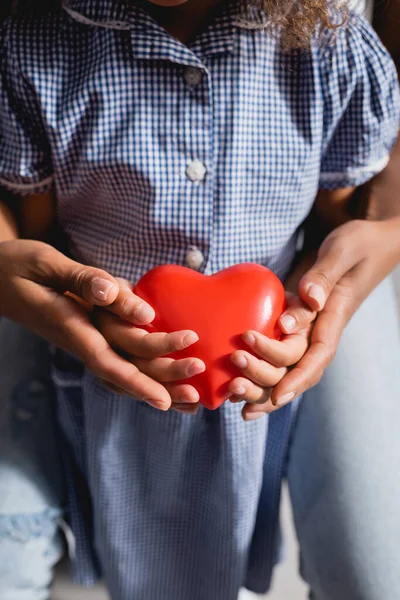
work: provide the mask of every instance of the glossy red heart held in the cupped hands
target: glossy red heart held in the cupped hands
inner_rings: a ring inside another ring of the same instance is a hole
[[[199,341],[174,358],[195,356],[206,371],[187,380],[211,410],[232,394],[228,385],[241,375],[230,361],[232,352],[249,348],[241,340],[248,329],[279,339],[277,321],[286,308],[285,291],[266,267],[239,264],[215,275],[203,275],[178,265],[165,265],[144,275],[133,292],[155,310],[149,332],[191,329]]]

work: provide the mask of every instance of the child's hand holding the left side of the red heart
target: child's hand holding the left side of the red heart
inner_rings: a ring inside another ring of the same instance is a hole
[[[119,295],[117,301],[127,304],[132,299],[132,286],[124,279],[117,279]],[[132,315],[133,316],[133,315]],[[199,409],[199,393],[188,384],[171,385],[181,379],[189,379],[205,370],[205,364],[198,358],[183,358],[174,360],[167,354],[188,348],[198,341],[193,331],[175,331],[173,333],[147,333],[144,329],[135,327],[134,320],[121,320],[108,309],[95,312],[96,324],[110,346],[121,356],[124,356],[141,374],[155,382],[162,383],[171,396],[171,408],[185,414],[195,414]],[[123,389],[115,386],[107,387],[121,394]]]

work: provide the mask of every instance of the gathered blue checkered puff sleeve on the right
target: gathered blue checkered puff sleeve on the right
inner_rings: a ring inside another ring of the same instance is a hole
[[[318,52],[324,106],[319,187],[358,186],[385,168],[397,138],[397,73],[375,32],[356,15]]]

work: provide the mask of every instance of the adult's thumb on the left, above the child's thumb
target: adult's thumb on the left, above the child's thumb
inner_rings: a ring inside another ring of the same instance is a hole
[[[35,256],[38,283],[78,296],[91,306],[109,306],[119,293],[118,282],[106,271],[82,265],[46,246]]]

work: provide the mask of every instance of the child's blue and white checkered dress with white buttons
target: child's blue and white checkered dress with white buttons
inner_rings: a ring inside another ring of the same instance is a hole
[[[251,261],[284,277],[318,188],[385,166],[398,86],[368,25],[284,52],[236,13],[189,47],[123,0],[5,24],[0,180],[55,187],[78,260],[136,281],[195,247],[204,273]],[[79,580],[102,573],[115,600],[266,590],[292,408],[164,414],[55,362]]]

